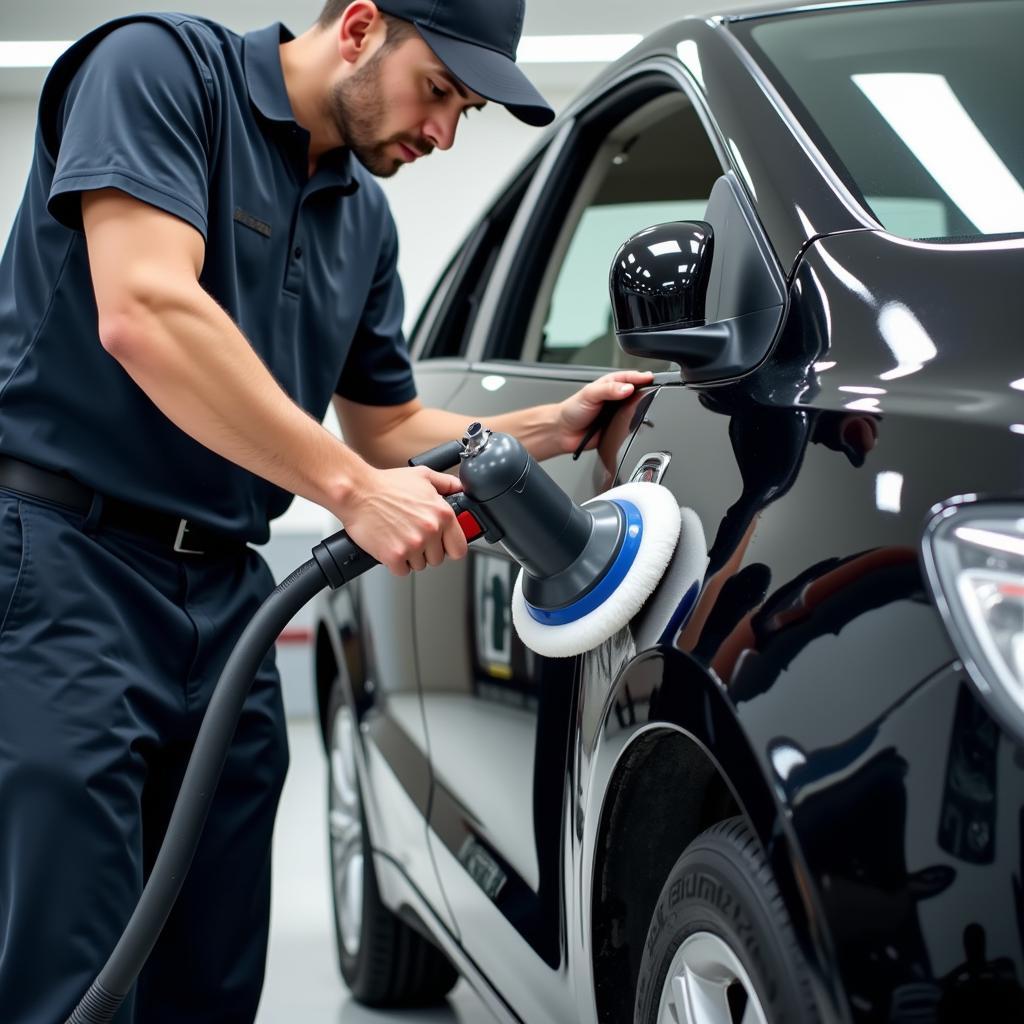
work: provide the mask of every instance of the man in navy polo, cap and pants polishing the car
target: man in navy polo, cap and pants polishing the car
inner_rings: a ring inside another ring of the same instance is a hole
[[[332,0],[293,38],[143,14],[47,79],[0,265],[4,1024],[63,1021],[111,952],[272,588],[247,543],[291,497],[399,575],[465,555],[455,478],[396,468],[467,417],[416,398],[374,175],[447,150],[486,99],[551,120],[514,62],[522,18],[523,0]],[[649,379],[490,426],[569,452]],[[332,397],[346,443],[321,426]],[[117,1021],[252,1021],[287,763],[268,658]]]

